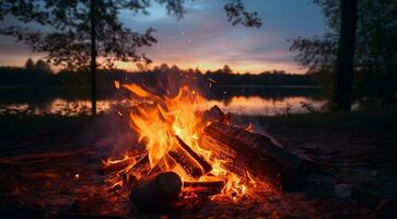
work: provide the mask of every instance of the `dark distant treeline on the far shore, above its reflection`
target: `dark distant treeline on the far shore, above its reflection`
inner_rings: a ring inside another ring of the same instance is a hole
[[[44,61],[38,60],[36,65],[26,61],[25,68],[0,67],[0,85],[2,88],[34,87],[40,88],[85,88],[89,87],[90,74],[84,71],[61,70],[55,73]],[[199,69],[182,70],[177,66],[168,67],[163,64],[151,70],[129,72],[125,70],[100,70],[98,87],[113,87],[114,80],[131,83],[187,83],[211,87],[313,87],[317,85],[315,80],[305,74],[290,74],[285,71],[265,71],[259,74],[234,73],[229,66],[215,71],[201,72]],[[164,84],[161,84],[164,85]],[[177,85],[177,84],[168,84]]]

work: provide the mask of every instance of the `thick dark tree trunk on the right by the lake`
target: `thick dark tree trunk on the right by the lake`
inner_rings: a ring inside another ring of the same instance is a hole
[[[334,111],[349,112],[353,82],[357,0],[341,0],[341,25],[336,64]]]

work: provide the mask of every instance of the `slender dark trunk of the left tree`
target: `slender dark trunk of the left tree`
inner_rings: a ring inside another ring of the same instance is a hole
[[[96,115],[96,0],[90,1],[91,23],[91,113]]]

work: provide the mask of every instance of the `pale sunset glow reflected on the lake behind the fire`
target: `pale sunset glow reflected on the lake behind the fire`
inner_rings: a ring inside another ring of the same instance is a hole
[[[224,112],[240,115],[277,115],[283,113],[307,113],[307,108],[302,104],[307,103],[314,108],[320,108],[326,101],[313,100],[307,96],[292,96],[283,99],[265,99],[260,96],[232,96],[227,100],[209,100],[202,108],[209,108],[213,105],[220,106]],[[109,112],[116,105],[122,105],[125,102],[117,100],[97,101],[97,111],[100,113]],[[24,113],[30,115],[69,115],[90,114],[91,102],[87,100],[65,100],[54,99],[39,104],[17,103],[1,104],[0,114]]]

